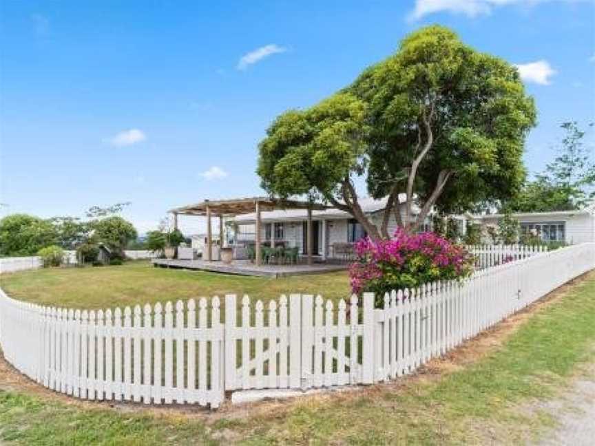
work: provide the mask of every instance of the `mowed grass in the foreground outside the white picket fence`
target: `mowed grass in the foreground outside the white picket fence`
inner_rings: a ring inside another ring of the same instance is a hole
[[[0,443],[519,444],[552,418],[526,410],[595,361],[595,273],[534,310],[501,346],[436,379],[306,397],[217,420],[89,410],[0,390]],[[488,335],[489,336],[489,335]],[[1,385],[0,385],[1,388]]]

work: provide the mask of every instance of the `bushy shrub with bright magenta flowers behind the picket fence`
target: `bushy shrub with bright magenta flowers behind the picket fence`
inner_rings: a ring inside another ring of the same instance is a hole
[[[351,290],[375,293],[377,307],[382,307],[386,292],[468,277],[474,264],[470,253],[435,233],[400,229],[391,240],[359,240],[355,253],[357,260],[349,269]]]

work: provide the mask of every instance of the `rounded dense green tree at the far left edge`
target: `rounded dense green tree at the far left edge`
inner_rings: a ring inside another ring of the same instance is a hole
[[[36,255],[56,243],[56,231],[48,221],[27,214],[12,214],[0,220],[0,255]]]

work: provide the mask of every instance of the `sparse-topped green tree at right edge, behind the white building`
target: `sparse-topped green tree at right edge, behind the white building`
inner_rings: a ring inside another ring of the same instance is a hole
[[[590,124],[589,127],[592,127]],[[595,198],[595,151],[585,147],[585,131],[576,122],[563,123],[565,136],[558,156],[545,171],[527,182],[503,209],[519,212],[572,211]]]

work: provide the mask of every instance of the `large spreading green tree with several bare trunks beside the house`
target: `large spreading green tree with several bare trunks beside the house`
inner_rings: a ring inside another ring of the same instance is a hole
[[[430,26],[331,98],[278,117],[260,143],[258,173],[273,195],[322,197],[370,236],[388,237],[391,213],[411,230],[432,206],[464,211],[512,197],[535,115],[516,68]],[[358,176],[374,198],[388,197],[380,228],[359,205]]]

